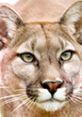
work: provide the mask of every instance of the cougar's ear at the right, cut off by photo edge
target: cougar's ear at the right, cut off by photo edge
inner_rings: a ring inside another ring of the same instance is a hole
[[[74,3],[63,15],[60,23],[75,36],[82,45],[82,1]]]

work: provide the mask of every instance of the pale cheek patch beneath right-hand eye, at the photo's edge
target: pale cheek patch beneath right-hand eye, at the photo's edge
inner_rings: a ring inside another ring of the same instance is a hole
[[[82,86],[82,67],[80,61],[66,63],[63,66],[64,71],[72,79],[72,84],[75,87]]]

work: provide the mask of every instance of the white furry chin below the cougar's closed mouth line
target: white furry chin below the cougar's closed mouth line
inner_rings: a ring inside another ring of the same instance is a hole
[[[46,101],[37,103],[37,106],[47,112],[55,112],[58,110],[61,110],[65,105],[67,101],[64,102],[58,102],[58,101]]]

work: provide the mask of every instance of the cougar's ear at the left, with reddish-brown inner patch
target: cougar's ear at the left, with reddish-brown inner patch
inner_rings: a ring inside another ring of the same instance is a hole
[[[0,7],[0,49],[7,46],[22,25],[23,21],[15,11],[8,6]]]

